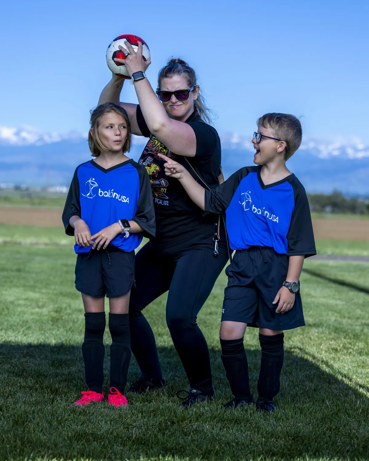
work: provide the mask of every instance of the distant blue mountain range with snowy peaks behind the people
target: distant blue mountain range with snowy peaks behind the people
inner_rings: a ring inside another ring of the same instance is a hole
[[[224,134],[222,165],[226,177],[252,165],[250,137]],[[137,160],[145,139],[135,137],[130,155]],[[5,184],[44,187],[69,185],[73,171],[91,159],[87,134],[45,134],[31,128],[0,127],[0,187]],[[369,195],[369,146],[352,142],[304,139],[287,162],[308,192]]]

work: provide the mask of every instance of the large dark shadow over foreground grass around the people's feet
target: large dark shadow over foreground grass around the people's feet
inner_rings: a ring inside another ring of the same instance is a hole
[[[109,348],[105,350],[107,378]],[[332,371],[325,372],[303,349],[286,351],[277,411],[265,416],[253,408],[221,408],[231,393],[220,351],[211,349],[210,354],[216,402],[187,411],[179,408],[175,393],[186,389],[187,379],[175,349],[162,347],[166,390],[129,396],[129,407],[117,412],[105,402],[88,408],[73,406],[85,389],[79,346],[0,344],[0,459],[353,460],[367,456],[369,400],[346,384],[343,379],[350,377],[331,364],[324,364]],[[248,350],[247,356],[256,393],[260,352]],[[129,382],[138,373],[132,361]],[[365,385],[359,387],[368,391]]]

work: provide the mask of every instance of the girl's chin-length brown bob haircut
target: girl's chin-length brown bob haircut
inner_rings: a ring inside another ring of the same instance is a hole
[[[88,132],[88,147],[90,148],[93,157],[99,157],[101,151],[106,150],[99,139],[98,128],[101,118],[109,112],[116,112],[124,117],[127,125],[127,139],[123,144],[123,154],[129,152],[129,149],[131,148],[132,130],[127,112],[123,109],[123,107],[114,104],[114,102],[104,102],[104,104],[100,104],[100,106],[97,106],[94,110],[90,111],[91,129]]]

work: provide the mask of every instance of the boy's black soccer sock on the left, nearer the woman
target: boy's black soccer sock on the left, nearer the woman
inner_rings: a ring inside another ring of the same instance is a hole
[[[220,345],[222,347],[221,358],[232,394],[237,399],[252,399],[243,337],[239,339],[221,339]]]

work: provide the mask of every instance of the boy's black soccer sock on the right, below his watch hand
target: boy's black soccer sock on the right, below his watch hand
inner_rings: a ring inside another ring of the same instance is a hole
[[[273,400],[279,392],[281,369],[283,366],[284,334],[267,336],[259,333],[261,364],[258,379],[258,394],[263,400]]]

